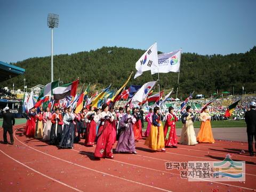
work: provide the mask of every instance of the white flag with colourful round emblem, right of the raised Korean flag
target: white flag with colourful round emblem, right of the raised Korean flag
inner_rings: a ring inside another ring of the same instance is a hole
[[[151,69],[151,74],[179,72],[181,50],[158,55],[158,68]]]

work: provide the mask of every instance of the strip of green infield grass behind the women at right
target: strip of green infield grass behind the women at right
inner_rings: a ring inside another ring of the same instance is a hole
[[[165,122],[163,122],[164,126]],[[194,127],[195,128],[200,128],[201,122],[194,122]],[[212,128],[228,128],[228,127],[246,127],[246,123],[244,120],[227,120],[227,121],[212,121],[211,122]],[[176,122],[176,128],[181,129],[182,128],[182,123]],[[147,128],[147,122],[144,123],[144,129]]]

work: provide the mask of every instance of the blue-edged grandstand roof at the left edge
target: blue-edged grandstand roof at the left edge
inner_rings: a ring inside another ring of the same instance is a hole
[[[24,73],[25,69],[0,61],[0,82]]]

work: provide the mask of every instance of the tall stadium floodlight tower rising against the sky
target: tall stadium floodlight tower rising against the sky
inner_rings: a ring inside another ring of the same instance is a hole
[[[49,13],[47,18],[47,26],[52,29],[51,81],[53,82],[53,28],[59,27],[59,15]]]

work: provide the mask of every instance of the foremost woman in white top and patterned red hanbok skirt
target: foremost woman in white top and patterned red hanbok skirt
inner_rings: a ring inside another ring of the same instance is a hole
[[[114,158],[113,155],[113,132],[115,132],[115,127],[113,124],[114,116],[109,113],[108,105],[102,105],[102,112],[99,115],[100,126],[97,134],[97,146],[94,151],[94,157],[97,158]]]

